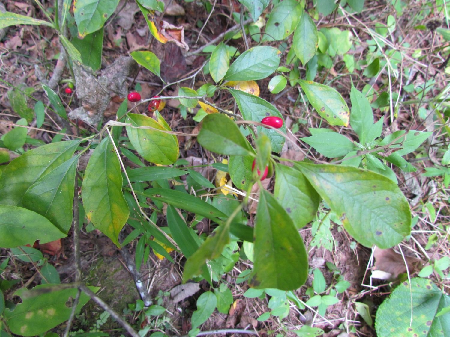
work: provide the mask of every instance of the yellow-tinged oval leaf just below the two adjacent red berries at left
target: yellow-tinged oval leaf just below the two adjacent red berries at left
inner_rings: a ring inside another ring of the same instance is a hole
[[[134,126],[126,126],[126,132],[139,155],[151,163],[162,165],[175,163],[180,150],[178,142],[170,133],[164,132],[167,131],[164,126],[153,118],[139,114],[128,114],[125,121]],[[148,126],[156,130],[135,128],[139,126]]]

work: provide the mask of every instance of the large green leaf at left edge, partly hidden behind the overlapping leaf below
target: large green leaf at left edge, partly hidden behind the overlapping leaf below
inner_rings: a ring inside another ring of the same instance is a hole
[[[79,141],[37,147],[11,161],[0,176],[1,203],[21,206],[28,188],[63,162],[72,158]]]

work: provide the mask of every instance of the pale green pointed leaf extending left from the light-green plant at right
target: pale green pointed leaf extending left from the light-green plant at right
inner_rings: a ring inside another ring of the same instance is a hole
[[[300,139],[327,158],[342,157],[358,149],[350,139],[337,132],[318,133]]]

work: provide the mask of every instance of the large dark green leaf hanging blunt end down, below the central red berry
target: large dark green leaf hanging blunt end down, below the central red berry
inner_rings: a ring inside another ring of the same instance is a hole
[[[283,207],[261,189],[255,222],[252,288],[294,290],[305,283],[308,254]]]

